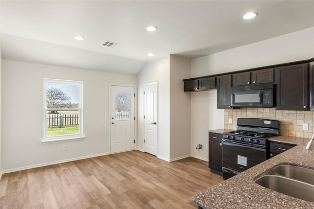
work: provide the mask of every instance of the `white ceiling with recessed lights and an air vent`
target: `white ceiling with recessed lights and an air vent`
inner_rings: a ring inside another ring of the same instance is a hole
[[[258,16],[243,20],[250,11]],[[192,59],[313,27],[314,0],[1,0],[0,18],[3,59],[136,75],[169,54]]]

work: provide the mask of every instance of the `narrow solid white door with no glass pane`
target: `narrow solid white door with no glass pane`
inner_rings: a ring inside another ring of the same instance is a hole
[[[157,156],[158,112],[157,83],[144,85],[144,151]]]

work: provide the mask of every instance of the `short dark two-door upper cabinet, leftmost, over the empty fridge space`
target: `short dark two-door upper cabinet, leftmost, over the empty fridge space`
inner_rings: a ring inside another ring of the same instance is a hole
[[[192,80],[183,80],[184,92],[205,91],[216,88],[216,77],[205,77]]]

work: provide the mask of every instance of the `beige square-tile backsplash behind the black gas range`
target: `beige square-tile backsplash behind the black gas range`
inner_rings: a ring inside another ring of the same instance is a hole
[[[314,133],[314,111],[276,110],[275,108],[225,110],[224,128],[236,129],[236,120],[239,117],[278,120],[279,134],[282,136],[311,138]],[[229,123],[229,118],[232,118],[232,124]],[[303,123],[309,124],[309,130],[303,130]]]

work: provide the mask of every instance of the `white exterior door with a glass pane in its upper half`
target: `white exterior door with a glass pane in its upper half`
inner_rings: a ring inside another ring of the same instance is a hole
[[[111,153],[134,150],[134,87],[111,86]]]

